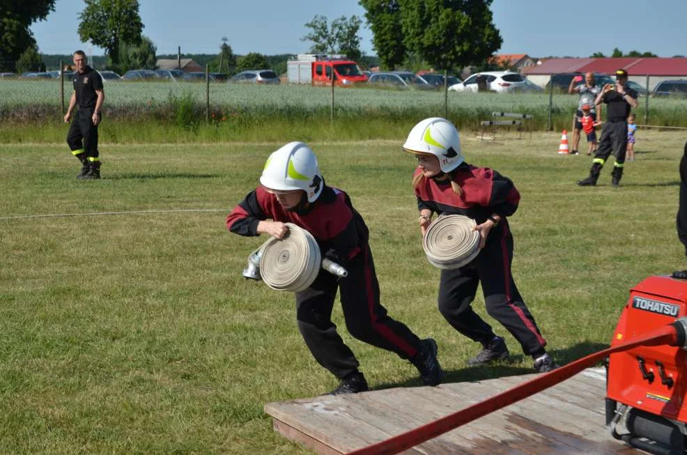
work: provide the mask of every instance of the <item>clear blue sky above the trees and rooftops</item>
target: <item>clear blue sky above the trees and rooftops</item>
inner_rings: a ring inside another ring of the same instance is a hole
[[[176,54],[178,46],[182,54],[217,54],[224,37],[234,54],[302,54],[311,45],[300,40],[309,31],[304,24],[315,15],[330,21],[357,15],[364,22],[365,13],[357,0],[139,0],[139,5],[143,34],[160,55]],[[84,8],[84,0],[57,0],[54,12],[31,26],[39,52],[104,54],[79,39]],[[491,10],[503,38],[500,54],[608,56],[615,47],[661,57],[687,54],[686,0],[494,0]],[[359,35],[362,52],[374,55],[371,31],[364,27]]]

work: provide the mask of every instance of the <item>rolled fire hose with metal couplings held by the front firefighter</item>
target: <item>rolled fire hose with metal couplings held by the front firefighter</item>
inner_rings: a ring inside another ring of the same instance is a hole
[[[286,226],[288,232],[284,238],[270,238],[249,256],[248,267],[242,273],[244,277],[262,279],[277,291],[299,292],[315,281],[320,268],[337,277],[348,276],[341,265],[322,259],[311,233],[292,223]]]

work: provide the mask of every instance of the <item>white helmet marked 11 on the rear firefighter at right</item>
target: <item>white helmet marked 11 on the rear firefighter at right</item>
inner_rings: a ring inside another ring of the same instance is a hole
[[[458,130],[453,123],[440,117],[425,118],[412,127],[403,150],[416,155],[435,155],[444,172],[453,171],[465,161]]]

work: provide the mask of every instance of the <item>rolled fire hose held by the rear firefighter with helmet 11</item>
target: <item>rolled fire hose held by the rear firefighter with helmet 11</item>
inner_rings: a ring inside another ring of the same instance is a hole
[[[440,215],[429,225],[422,247],[429,263],[442,269],[461,268],[479,254],[479,232],[474,219],[463,215]]]

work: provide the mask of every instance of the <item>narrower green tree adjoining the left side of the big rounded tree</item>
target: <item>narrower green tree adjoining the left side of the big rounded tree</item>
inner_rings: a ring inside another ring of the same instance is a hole
[[[401,6],[398,0],[360,0],[365,19],[372,31],[372,44],[383,67],[394,70],[406,59],[401,30]]]

